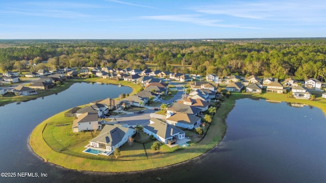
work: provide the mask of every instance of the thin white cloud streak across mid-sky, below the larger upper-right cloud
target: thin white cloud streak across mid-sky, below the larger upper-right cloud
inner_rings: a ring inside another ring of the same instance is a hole
[[[165,20],[165,21],[177,21],[177,22],[187,22],[197,25],[205,26],[214,26],[214,27],[234,27],[234,28],[249,28],[249,29],[262,29],[260,27],[251,27],[251,26],[241,26],[236,24],[221,24],[222,20],[219,19],[208,19],[202,18],[202,15],[193,14],[193,15],[158,15],[158,16],[142,16],[141,19],[148,20]]]

